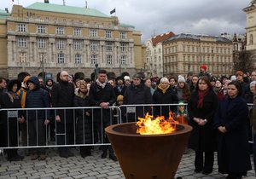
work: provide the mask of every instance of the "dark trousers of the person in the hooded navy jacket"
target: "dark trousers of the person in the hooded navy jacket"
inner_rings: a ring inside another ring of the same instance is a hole
[[[29,120],[28,127],[28,144],[29,146],[45,146],[46,145],[46,127],[44,119],[38,118],[35,120]],[[44,147],[32,147],[29,149],[31,154],[45,153]]]

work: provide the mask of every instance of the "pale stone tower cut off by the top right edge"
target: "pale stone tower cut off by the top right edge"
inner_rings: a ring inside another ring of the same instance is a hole
[[[256,49],[256,0],[251,1],[250,5],[243,9],[247,14],[247,50]]]

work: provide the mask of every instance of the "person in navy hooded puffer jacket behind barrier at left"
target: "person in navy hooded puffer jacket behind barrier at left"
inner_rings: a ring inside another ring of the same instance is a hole
[[[39,80],[37,77],[32,76],[26,81],[28,91],[26,93],[26,108],[42,108],[49,107],[48,92],[40,88]],[[45,113],[47,115],[45,115]],[[49,112],[44,110],[28,110],[27,127],[29,136],[29,146],[45,146],[45,125],[49,124]],[[46,159],[44,147],[30,148],[31,159]]]

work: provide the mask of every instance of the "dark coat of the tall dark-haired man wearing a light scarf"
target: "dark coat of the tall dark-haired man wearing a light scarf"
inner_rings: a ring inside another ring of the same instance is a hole
[[[108,102],[109,106],[113,106],[115,100],[116,97],[111,84],[107,83],[104,88],[96,83],[90,85],[90,106],[100,107],[102,102]],[[109,125],[112,121],[112,113],[109,109],[96,109],[93,111],[93,115],[97,123],[103,121],[104,124]]]

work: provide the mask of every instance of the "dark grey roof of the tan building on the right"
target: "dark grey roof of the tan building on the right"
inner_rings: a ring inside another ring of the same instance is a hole
[[[209,36],[209,35],[195,35],[190,33],[180,33],[171,38],[168,38],[165,42],[174,41],[177,39],[188,39],[188,40],[196,40],[199,41],[201,38],[214,38],[217,42],[222,43],[232,43],[228,38],[218,37],[218,36]]]

